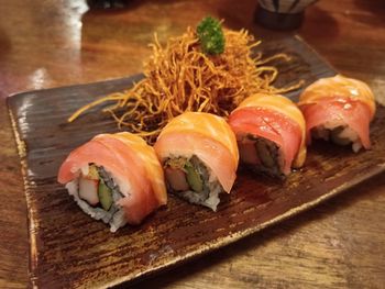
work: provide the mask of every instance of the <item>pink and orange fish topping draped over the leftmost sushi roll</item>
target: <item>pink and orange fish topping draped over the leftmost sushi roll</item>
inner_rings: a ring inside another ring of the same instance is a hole
[[[102,166],[119,186],[124,196],[119,204],[124,209],[128,223],[139,224],[166,203],[161,164],[141,137],[129,133],[95,136],[69,154],[59,168],[58,181],[72,181],[90,163]]]

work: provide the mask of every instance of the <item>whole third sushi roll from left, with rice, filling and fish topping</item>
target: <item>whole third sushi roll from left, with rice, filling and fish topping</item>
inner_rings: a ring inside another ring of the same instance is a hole
[[[284,178],[306,158],[305,119],[289,99],[256,93],[231,112],[241,163],[257,173]]]

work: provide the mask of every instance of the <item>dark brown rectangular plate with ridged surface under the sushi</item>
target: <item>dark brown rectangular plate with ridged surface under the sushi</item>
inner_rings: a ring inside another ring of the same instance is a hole
[[[264,43],[265,54],[286,52],[277,85],[307,84],[333,75],[298,37]],[[222,247],[346,190],[385,168],[385,109],[372,123],[373,149],[354,154],[318,143],[304,169],[279,182],[240,169],[234,190],[222,196],[218,212],[170,196],[169,203],[140,226],[112,234],[84,214],[56,182],[66,155],[95,134],[117,131],[108,115],[88,113],[66,119],[80,105],[122,90],[141,76],[96,84],[23,92],[8,99],[19,148],[29,211],[31,285],[109,287],[168,268]],[[295,98],[299,91],[289,97]]]

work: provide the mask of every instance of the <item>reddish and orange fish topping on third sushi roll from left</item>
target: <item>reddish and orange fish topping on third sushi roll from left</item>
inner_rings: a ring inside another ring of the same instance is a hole
[[[284,153],[284,174],[299,168],[306,159],[306,123],[297,105],[279,95],[256,93],[230,114],[229,123],[243,137],[245,133],[276,143]]]

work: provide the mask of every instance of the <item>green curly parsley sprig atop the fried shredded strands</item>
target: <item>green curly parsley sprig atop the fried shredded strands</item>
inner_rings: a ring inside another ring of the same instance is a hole
[[[217,55],[224,52],[224,36],[219,20],[205,18],[197,26],[197,34],[204,53]]]

